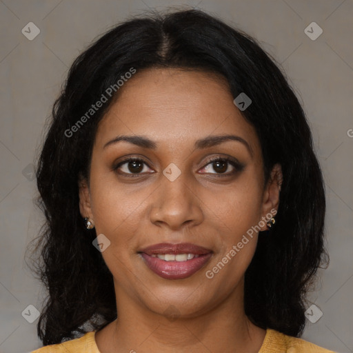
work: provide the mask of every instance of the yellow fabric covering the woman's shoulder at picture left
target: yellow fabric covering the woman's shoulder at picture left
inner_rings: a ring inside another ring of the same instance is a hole
[[[72,339],[56,345],[46,345],[31,353],[99,353],[96,342],[94,341],[95,331],[87,332],[79,339]]]

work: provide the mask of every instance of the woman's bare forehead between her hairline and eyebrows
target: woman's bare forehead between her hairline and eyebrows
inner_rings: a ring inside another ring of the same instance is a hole
[[[212,134],[234,133],[253,150],[259,141],[252,125],[233,103],[224,77],[177,68],[154,68],[134,74],[99,123],[95,144],[117,134],[148,135],[175,148]]]

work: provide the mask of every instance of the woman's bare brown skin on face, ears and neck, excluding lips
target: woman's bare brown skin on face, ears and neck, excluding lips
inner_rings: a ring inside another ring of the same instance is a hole
[[[205,276],[279,205],[281,167],[274,166],[265,184],[259,139],[233,99],[225,79],[214,74],[148,69],[123,85],[99,123],[90,180],[81,180],[79,196],[81,215],[110,240],[102,256],[114,277],[118,319],[96,333],[101,353],[259,352],[265,330],[243,307],[257,234],[212,279]],[[126,141],[103,147],[120,134],[143,135],[157,148]],[[250,150],[239,141],[194,148],[198,139],[225,134],[243,138]],[[134,174],[131,163],[113,169],[127,156],[146,163],[137,177],[123,175]],[[233,157],[245,166],[236,171],[225,164],[228,176],[217,177],[222,168],[210,157]],[[163,175],[170,163],[181,171],[174,181]],[[162,242],[201,245],[212,258],[187,279],[162,279],[137,253]]]

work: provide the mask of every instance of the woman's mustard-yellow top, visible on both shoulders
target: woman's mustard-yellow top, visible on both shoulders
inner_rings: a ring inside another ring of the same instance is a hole
[[[100,353],[94,341],[94,333],[87,332],[79,339],[72,339],[57,345],[46,345],[31,353]],[[259,353],[335,353],[303,339],[296,339],[281,332],[268,329]]]

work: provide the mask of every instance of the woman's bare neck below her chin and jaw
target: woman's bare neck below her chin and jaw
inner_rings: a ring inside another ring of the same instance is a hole
[[[157,314],[118,287],[118,319],[97,332],[97,346],[101,353],[259,352],[265,330],[245,315],[243,285],[239,287],[219,305],[188,315],[172,305]]]

